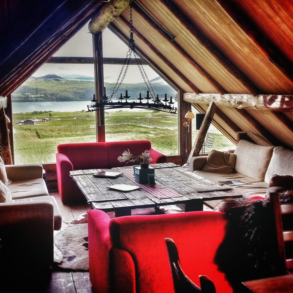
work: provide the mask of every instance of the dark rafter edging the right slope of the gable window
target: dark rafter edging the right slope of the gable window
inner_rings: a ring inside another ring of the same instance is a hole
[[[113,23],[111,23],[108,28],[115,33],[115,35],[118,36],[118,38],[120,38],[120,40],[122,40],[122,42],[124,42],[126,45],[129,45],[129,39],[126,37],[126,35],[124,35]],[[136,48],[137,50],[137,48]],[[159,75],[161,76],[167,83],[171,84],[171,86],[173,86],[174,88],[176,88],[177,90],[179,90],[179,86],[178,84],[176,84],[175,81],[173,81],[168,74],[166,74],[165,71],[163,71],[161,68],[158,68],[158,66],[156,64],[154,64],[152,62],[151,59],[149,59],[144,53],[142,52],[138,52],[137,54],[139,55],[140,58],[143,58],[144,60],[146,60],[148,62],[148,65]]]

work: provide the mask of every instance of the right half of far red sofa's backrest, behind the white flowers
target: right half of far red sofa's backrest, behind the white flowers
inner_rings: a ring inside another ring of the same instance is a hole
[[[139,162],[119,162],[117,160],[118,156],[122,156],[123,151],[130,150],[134,156],[139,156],[146,149],[151,148],[151,142],[149,140],[130,140],[125,142],[106,142],[108,149],[108,161],[109,168],[113,167],[123,167],[123,166],[132,166],[139,165]],[[128,163],[127,163],[128,162]]]

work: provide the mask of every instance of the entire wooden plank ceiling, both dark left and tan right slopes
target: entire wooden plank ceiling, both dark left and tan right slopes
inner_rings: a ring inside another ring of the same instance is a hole
[[[15,90],[102,5],[1,1],[0,95]],[[111,23],[126,40],[128,20],[129,8]],[[183,92],[293,94],[290,0],[136,0],[133,25],[137,50]],[[258,144],[293,149],[289,111],[218,106],[214,123],[232,141],[237,131],[246,131]]]

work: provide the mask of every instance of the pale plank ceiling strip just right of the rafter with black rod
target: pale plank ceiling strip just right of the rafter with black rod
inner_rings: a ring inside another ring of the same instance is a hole
[[[175,36],[177,42],[202,68],[204,68],[228,93],[247,93],[248,90],[230,74],[190,33],[185,30],[171,10],[166,9],[159,1],[139,1],[158,23]],[[168,21],[165,21],[168,19]]]

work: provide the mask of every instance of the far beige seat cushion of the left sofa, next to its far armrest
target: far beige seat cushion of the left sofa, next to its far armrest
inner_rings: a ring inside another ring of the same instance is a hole
[[[44,179],[29,179],[13,181],[7,186],[12,199],[49,195]]]

